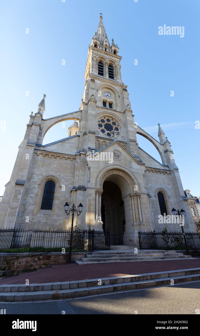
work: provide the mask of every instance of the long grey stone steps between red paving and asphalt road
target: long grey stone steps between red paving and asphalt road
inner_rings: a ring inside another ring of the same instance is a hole
[[[101,280],[101,284],[100,283]],[[1,285],[1,302],[73,299],[200,281],[200,268],[30,285]]]

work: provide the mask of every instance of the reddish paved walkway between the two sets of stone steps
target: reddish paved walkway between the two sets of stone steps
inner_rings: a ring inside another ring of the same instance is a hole
[[[162,261],[137,261],[137,262],[107,262],[102,264],[60,264],[54,267],[38,268],[36,271],[23,272],[13,277],[3,277],[3,284],[24,284],[26,279],[29,283],[47,283],[72,280],[96,279],[133,275],[150,272],[169,271],[175,269],[200,267],[200,258]]]

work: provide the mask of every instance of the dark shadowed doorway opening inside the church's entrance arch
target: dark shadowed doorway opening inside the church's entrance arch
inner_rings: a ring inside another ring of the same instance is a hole
[[[111,181],[103,183],[101,196],[101,218],[103,230],[110,232],[110,245],[123,244],[125,225],[124,202],[120,188]]]

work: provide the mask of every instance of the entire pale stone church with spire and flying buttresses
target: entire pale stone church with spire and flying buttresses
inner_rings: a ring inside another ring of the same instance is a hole
[[[195,230],[170,142],[160,126],[158,141],[134,123],[120,60],[100,16],[88,49],[81,106],[44,119],[44,95],[38,112],[30,115],[6,184],[0,227],[70,228],[67,201],[84,206],[74,225],[108,229],[111,244],[138,246],[139,230],[179,230],[179,224],[158,223],[159,214],[171,214],[173,207],[185,209],[185,230]],[[78,121],[68,137],[43,145],[46,132],[66,120]],[[162,164],[139,147],[137,134],[155,146]]]

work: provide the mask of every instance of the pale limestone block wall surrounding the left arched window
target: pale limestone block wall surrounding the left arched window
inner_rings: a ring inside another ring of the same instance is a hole
[[[70,204],[74,170],[74,159],[34,154],[18,225],[35,228],[68,228],[69,216],[66,216],[64,212],[64,204],[66,201]],[[48,176],[48,179],[53,179],[56,184],[53,208],[52,210],[41,210],[44,185],[47,181],[45,177]]]

